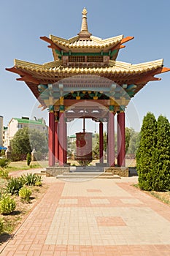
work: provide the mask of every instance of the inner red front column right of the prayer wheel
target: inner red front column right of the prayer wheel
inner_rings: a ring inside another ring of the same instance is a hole
[[[115,116],[114,106],[109,106],[107,154],[109,166],[115,166]]]

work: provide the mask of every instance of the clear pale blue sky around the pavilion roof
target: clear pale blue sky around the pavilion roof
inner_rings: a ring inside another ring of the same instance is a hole
[[[39,104],[26,84],[16,81],[18,75],[5,68],[13,66],[13,59],[37,64],[53,61],[47,43],[39,37],[53,34],[69,39],[76,36],[81,28],[83,7],[88,10],[88,29],[93,36],[103,39],[120,34],[134,36],[120,50],[118,61],[136,64],[164,59],[164,67],[170,67],[169,0],[1,1],[0,115],[4,116],[4,125],[12,117],[47,118],[47,111],[37,109]],[[126,111],[127,126],[139,129],[148,111],[156,118],[162,114],[170,120],[170,72],[157,77],[162,80],[147,83],[132,99]],[[78,122],[72,124],[70,133],[75,126]],[[92,129],[95,129],[94,124]]]

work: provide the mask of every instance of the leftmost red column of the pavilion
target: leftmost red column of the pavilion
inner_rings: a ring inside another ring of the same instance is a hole
[[[55,121],[55,116],[54,116],[53,106],[51,106],[49,111],[49,132],[48,132],[49,166],[55,165],[54,121]]]

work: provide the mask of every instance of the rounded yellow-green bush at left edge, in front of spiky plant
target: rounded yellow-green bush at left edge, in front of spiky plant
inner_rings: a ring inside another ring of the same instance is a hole
[[[0,200],[0,213],[11,214],[15,210],[15,200],[9,197],[9,195],[3,195]]]

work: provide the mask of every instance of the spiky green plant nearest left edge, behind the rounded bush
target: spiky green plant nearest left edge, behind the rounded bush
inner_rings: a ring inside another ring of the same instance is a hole
[[[19,190],[23,187],[21,178],[10,178],[7,184],[7,192],[10,194],[18,194]]]

